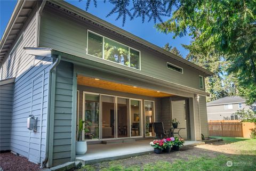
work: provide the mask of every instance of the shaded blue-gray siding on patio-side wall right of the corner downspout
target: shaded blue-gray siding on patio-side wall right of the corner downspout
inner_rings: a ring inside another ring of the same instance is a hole
[[[71,160],[72,98],[73,64],[61,62],[56,70],[53,166]]]

